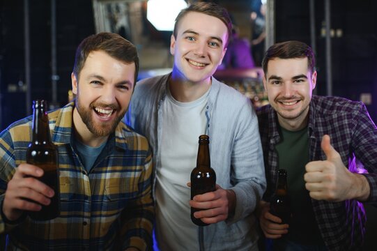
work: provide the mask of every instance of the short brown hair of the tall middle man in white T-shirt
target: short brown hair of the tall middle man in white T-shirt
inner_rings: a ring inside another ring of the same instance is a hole
[[[226,47],[229,44],[229,40],[232,37],[231,17],[229,16],[229,13],[225,8],[212,2],[196,2],[196,3],[192,3],[187,8],[180,10],[180,13],[176,17],[176,23],[174,24],[174,31],[173,31],[174,38],[177,37],[178,24],[180,20],[182,20],[182,18],[187,13],[190,13],[190,12],[203,13],[203,14],[210,15],[212,17],[217,17],[218,19],[220,19],[225,24],[226,29],[228,29],[228,40],[226,41],[224,47]]]

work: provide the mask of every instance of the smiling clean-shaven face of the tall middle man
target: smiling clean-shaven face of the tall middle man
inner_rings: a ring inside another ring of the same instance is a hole
[[[171,36],[172,77],[185,82],[210,82],[226,52],[227,39],[228,29],[217,17],[187,13],[179,21],[176,37]]]

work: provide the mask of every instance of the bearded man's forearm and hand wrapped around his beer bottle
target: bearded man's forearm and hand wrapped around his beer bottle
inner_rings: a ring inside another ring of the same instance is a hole
[[[19,162],[24,160],[17,160]],[[0,234],[16,227],[24,217],[24,211],[38,211],[40,205],[26,199],[49,204],[54,192],[34,177],[43,170],[28,164],[16,168],[13,139],[8,130],[0,134]]]

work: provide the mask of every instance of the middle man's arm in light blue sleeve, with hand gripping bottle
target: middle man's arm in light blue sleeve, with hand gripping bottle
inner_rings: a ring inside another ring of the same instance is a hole
[[[254,211],[256,202],[266,189],[261,142],[254,109],[249,103],[245,103],[235,117],[238,120],[233,131],[235,136],[229,171],[233,187],[224,190],[217,185],[215,192],[197,195],[190,201],[190,206],[208,209],[194,215],[206,223],[226,220],[231,224],[247,217]]]

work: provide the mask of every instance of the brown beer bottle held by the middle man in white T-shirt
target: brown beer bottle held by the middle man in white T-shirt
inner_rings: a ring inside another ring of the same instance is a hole
[[[197,167],[191,172],[191,199],[195,195],[202,195],[206,192],[213,192],[216,188],[216,174],[210,167],[210,137],[199,136],[199,149],[197,156]],[[201,209],[191,208],[191,220],[198,226],[207,226],[200,219],[194,217],[194,213]]]

